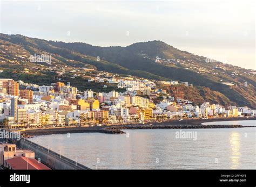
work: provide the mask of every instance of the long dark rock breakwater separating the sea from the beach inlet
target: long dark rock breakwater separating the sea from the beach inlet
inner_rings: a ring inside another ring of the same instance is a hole
[[[122,125],[105,127],[102,129],[102,133],[109,134],[124,134],[122,130],[142,130],[142,129],[197,129],[197,128],[242,128],[242,127],[254,127],[254,126],[242,126],[242,125]]]

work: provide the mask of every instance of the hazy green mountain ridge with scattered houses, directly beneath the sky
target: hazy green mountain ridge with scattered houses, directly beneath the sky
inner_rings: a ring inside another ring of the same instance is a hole
[[[58,60],[73,60],[69,66],[90,66],[111,73],[133,75],[156,80],[179,80],[208,87],[223,93],[238,105],[256,107],[255,75],[251,70],[213,61],[207,63],[204,56],[180,51],[163,41],[137,42],[121,47],[92,46],[83,42],[57,42],[22,35],[0,34],[0,39],[23,47],[30,54],[40,51],[55,54]],[[100,61],[97,61],[99,56]],[[157,58],[159,62],[157,62]],[[222,82],[234,83],[229,87]],[[248,82],[248,87],[244,86]]]

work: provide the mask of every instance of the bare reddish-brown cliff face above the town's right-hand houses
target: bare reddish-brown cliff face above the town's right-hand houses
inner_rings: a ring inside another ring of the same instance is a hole
[[[165,86],[163,87],[175,99],[184,98],[194,103],[210,102],[211,104],[220,104],[224,106],[234,105],[226,96],[218,91],[212,91],[206,87],[185,87],[185,85]]]

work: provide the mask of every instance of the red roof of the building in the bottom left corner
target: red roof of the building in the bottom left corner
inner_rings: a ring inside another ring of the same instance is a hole
[[[50,169],[36,159],[29,159],[24,156],[17,156],[12,159],[5,160],[13,169]]]

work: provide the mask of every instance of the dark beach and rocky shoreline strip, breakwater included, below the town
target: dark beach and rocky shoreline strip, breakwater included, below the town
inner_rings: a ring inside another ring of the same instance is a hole
[[[107,134],[124,134],[122,130],[138,130],[138,129],[197,129],[197,128],[242,128],[255,126],[242,125],[201,125],[206,122],[213,121],[233,121],[233,120],[255,120],[256,118],[214,118],[214,119],[188,119],[188,120],[170,120],[161,123],[149,124],[127,124],[127,125],[111,125],[111,126],[93,126],[93,127],[58,127],[58,128],[40,128],[35,130],[26,130],[22,132],[26,138],[34,135],[47,134],[67,134],[67,133],[107,133]],[[255,121],[256,123],[256,121]]]

